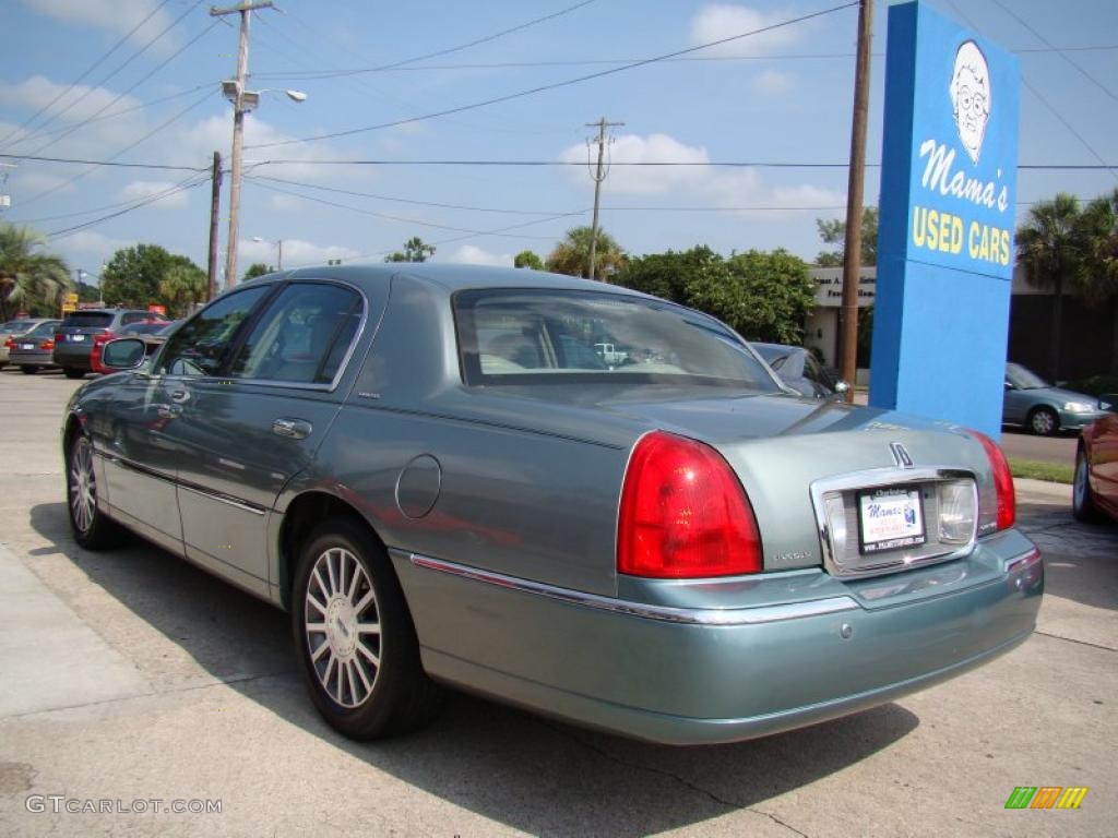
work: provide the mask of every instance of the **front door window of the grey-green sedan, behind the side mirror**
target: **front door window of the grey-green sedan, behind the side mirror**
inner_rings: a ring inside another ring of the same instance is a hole
[[[171,335],[158,371],[168,375],[216,375],[237,330],[271,291],[269,285],[258,285],[208,305]]]

